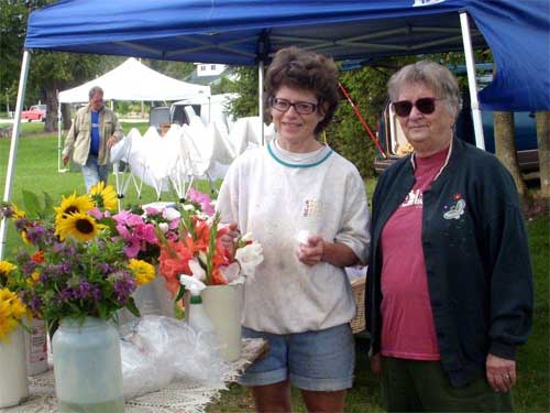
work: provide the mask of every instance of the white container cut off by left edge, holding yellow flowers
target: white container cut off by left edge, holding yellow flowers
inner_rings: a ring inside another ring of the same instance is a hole
[[[0,340],[0,407],[18,405],[29,398],[23,329],[9,334],[10,343]]]

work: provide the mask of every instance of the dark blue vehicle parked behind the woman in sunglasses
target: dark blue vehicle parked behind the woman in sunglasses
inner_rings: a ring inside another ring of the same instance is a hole
[[[495,153],[495,138],[493,126],[493,112],[482,111],[483,134],[485,139],[485,150]],[[537,127],[534,112],[514,113],[515,140],[519,169],[524,174],[529,174],[539,170],[539,155],[537,144]],[[380,152],[374,160],[374,169],[377,173],[384,170],[399,157],[407,155],[413,148],[407,142],[398,120],[389,106],[386,104],[378,120],[378,140],[384,149],[386,157]],[[457,135],[469,143],[475,144],[472,115],[470,106],[464,102],[464,107],[457,120]]]

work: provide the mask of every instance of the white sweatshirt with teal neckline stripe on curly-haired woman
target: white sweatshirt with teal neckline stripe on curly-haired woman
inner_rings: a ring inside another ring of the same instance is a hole
[[[307,231],[344,243],[366,263],[370,213],[352,163],[329,146],[297,154],[272,142],[232,163],[217,206],[222,222],[238,222],[264,249],[264,262],[244,284],[244,326],[289,334],[351,320],[355,304],[344,270],[301,263],[296,236]]]

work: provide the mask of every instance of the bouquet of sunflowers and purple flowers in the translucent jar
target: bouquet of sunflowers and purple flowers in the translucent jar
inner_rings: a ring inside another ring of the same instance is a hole
[[[110,215],[117,207],[113,188],[99,183],[89,194],[63,197],[53,209],[47,195],[44,203],[29,192],[23,198],[32,219],[13,204],[0,214],[14,220],[29,244],[15,256],[12,271],[31,312],[54,325],[64,317],[110,319],[122,307],[139,316],[132,293],[155,271],[127,253],[127,239]]]

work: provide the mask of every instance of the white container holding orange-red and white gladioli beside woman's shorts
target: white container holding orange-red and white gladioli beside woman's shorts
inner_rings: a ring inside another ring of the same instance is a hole
[[[221,355],[227,361],[241,357],[241,303],[240,285],[210,285],[202,290],[202,305],[213,324],[221,344]]]

